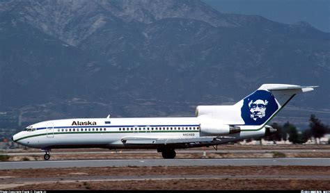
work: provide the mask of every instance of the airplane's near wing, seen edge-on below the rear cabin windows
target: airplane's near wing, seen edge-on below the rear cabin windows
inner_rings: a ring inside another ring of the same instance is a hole
[[[149,138],[149,137],[123,137],[125,144],[185,144],[195,142],[213,142],[221,138],[234,137],[189,137],[189,138]]]

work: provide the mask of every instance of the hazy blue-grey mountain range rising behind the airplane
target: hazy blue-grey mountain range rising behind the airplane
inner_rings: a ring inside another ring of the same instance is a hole
[[[320,85],[274,121],[330,122],[330,34],[198,0],[0,1],[0,127],[194,116],[263,83]],[[2,117],[1,117],[2,116]]]

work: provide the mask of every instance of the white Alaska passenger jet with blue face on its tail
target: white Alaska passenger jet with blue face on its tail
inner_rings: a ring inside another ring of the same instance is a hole
[[[18,144],[41,149],[157,149],[173,159],[175,149],[213,146],[276,133],[267,124],[296,95],[317,86],[263,84],[232,106],[197,106],[196,117],[58,119],[13,135]]]

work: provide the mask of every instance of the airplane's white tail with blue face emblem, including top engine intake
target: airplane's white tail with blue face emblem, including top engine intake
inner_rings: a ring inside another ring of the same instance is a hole
[[[317,86],[264,84],[233,106],[198,106],[199,116],[218,119],[223,124],[260,126],[267,124],[296,94]]]

